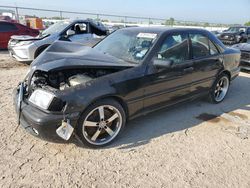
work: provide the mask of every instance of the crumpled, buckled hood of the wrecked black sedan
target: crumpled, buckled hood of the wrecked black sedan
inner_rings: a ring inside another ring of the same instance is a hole
[[[56,41],[32,62],[31,69],[48,72],[83,67],[121,68],[135,65],[80,43]]]

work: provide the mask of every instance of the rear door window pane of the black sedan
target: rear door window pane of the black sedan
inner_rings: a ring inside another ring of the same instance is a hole
[[[190,34],[192,42],[193,58],[201,58],[210,55],[208,38],[201,34]]]

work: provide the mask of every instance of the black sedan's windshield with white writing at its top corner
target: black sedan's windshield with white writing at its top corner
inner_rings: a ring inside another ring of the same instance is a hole
[[[98,43],[94,48],[124,61],[140,63],[156,38],[156,33],[118,30]]]

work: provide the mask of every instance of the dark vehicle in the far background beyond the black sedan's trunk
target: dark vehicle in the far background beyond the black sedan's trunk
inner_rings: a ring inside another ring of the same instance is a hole
[[[226,45],[247,42],[250,39],[250,27],[230,27],[228,30],[223,31],[218,38]]]

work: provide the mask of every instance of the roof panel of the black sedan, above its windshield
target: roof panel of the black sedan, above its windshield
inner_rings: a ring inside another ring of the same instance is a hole
[[[138,32],[149,32],[149,33],[157,33],[162,34],[168,31],[200,31],[200,32],[207,32],[205,29],[197,29],[197,28],[177,28],[177,27],[127,27],[123,28],[122,30],[134,30]]]

